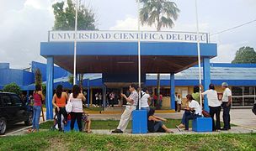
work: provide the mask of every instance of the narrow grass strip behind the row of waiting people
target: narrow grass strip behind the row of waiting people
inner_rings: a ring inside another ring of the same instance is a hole
[[[163,122],[167,128],[175,128],[176,125],[179,125],[181,120],[179,119],[168,119],[168,122]],[[92,120],[92,129],[115,129],[119,124],[117,120]],[[47,121],[40,124],[42,129],[50,129],[53,125],[53,121]],[[192,128],[192,121],[189,121],[189,128]],[[221,122],[221,127],[223,122]],[[235,125],[231,125],[234,127]],[[131,129],[131,122],[129,122],[127,129]]]

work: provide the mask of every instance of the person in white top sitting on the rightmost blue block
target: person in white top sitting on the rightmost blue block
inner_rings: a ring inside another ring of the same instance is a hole
[[[193,97],[191,95],[187,95],[186,97],[187,97],[187,102],[190,102],[190,103],[188,108],[184,108],[185,112],[183,114],[181,123],[179,124],[179,126],[176,126],[176,128],[178,128],[179,131],[181,128],[185,128],[185,130],[188,131],[189,120],[190,119],[194,120],[195,118],[202,116],[202,109],[199,103],[193,100]]]

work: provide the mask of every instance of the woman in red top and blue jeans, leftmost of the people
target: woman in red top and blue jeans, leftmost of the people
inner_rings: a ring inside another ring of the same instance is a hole
[[[45,96],[42,93],[41,86],[35,86],[35,91],[33,94],[34,97],[34,107],[33,107],[33,127],[32,131],[39,130],[39,122],[40,122],[40,112],[42,108],[42,101],[45,100]]]

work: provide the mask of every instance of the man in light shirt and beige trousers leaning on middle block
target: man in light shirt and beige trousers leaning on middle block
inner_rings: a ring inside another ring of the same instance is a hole
[[[135,84],[131,84],[129,86],[129,91],[131,92],[130,96],[127,97],[125,94],[121,93],[121,96],[125,98],[127,104],[125,107],[125,111],[123,112],[118,127],[112,131],[112,133],[124,133],[127,125],[129,123],[131,112],[136,110],[136,105],[139,100],[139,95],[136,91],[137,86]]]

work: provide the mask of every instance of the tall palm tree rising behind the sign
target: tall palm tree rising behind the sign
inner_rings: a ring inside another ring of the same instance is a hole
[[[143,7],[140,10],[142,25],[155,25],[157,31],[162,28],[173,28],[174,20],[177,20],[179,8],[170,0],[140,0]],[[157,74],[157,106],[160,100],[160,74]]]

